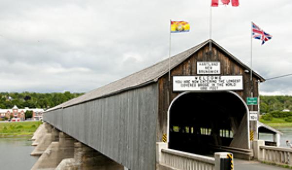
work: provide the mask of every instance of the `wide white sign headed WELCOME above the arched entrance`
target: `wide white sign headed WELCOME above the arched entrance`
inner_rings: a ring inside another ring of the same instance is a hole
[[[243,90],[242,75],[173,76],[173,91]]]

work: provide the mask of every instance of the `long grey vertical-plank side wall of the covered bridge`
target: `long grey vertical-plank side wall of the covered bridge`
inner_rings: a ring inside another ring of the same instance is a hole
[[[56,109],[46,122],[130,170],[155,170],[158,84]]]

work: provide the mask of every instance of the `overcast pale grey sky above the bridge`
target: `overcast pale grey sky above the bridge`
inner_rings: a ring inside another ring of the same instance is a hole
[[[209,38],[211,0],[1,0],[0,91],[87,92],[168,57],[169,22],[177,54]],[[292,73],[292,1],[239,0],[212,8],[212,38],[250,66],[251,21],[273,38],[253,40],[253,69],[264,78]],[[292,76],[260,85],[292,95]]]

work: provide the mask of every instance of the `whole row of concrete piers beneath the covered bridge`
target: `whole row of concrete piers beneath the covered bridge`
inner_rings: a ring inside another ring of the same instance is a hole
[[[36,132],[36,141],[41,132],[44,135],[31,153],[40,156],[32,170],[124,170],[122,165],[50,124],[42,128]]]

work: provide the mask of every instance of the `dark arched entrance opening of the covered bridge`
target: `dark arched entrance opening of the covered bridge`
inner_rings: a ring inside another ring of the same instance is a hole
[[[169,109],[169,148],[209,155],[248,149],[245,103],[232,92],[184,93]]]

